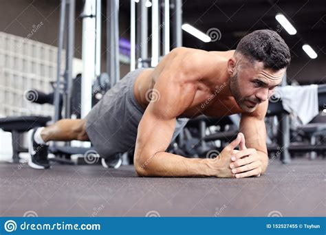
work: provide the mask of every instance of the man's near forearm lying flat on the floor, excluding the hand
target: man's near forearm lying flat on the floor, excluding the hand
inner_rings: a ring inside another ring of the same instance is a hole
[[[144,177],[208,177],[215,171],[208,160],[159,152],[135,168],[138,175]]]

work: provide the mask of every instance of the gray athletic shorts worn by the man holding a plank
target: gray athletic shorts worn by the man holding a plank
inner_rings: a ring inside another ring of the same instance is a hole
[[[124,76],[85,117],[87,135],[101,157],[109,158],[135,148],[144,109],[135,100],[133,85],[143,70],[136,69]],[[177,119],[171,142],[187,122],[188,118]]]

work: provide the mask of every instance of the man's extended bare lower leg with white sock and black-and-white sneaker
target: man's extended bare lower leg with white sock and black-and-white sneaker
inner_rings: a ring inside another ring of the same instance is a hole
[[[47,159],[47,142],[49,141],[87,141],[86,120],[63,119],[47,127],[34,128],[28,132],[28,165],[35,169],[50,168]]]

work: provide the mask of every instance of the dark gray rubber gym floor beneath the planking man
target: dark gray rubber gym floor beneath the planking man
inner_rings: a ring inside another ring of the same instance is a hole
[[[133,166],[33,170],[0,163],[0,214],[23,216],[326,216],[325,163],[270,163],[259,178],[143,178]]]

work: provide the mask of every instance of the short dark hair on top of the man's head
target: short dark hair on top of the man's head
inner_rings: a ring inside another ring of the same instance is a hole
[[[264,69],[277,71],[290,65],[290,49],[279,34],[272,30],[256,30],[241,38],[235,52],[250,61],[263,62]]]

